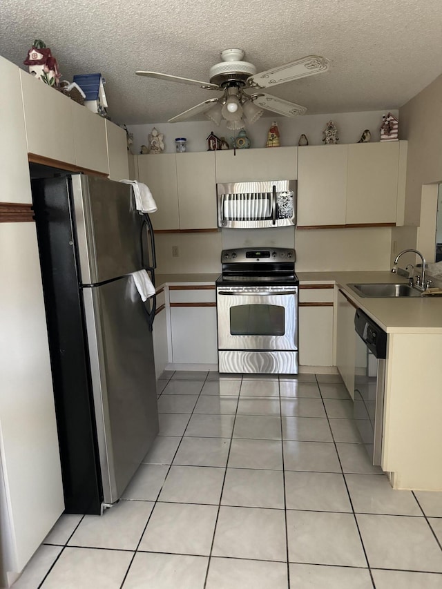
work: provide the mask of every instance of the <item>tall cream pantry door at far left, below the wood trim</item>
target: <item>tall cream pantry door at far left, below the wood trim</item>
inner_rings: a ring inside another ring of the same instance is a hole
[[[34,223],[0,223],[0,267],[0,572],[19,573],[64,511]]]

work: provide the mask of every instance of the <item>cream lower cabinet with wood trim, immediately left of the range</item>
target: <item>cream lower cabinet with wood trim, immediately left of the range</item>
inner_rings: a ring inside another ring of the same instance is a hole
[[[173,364],[217,364],[215,286],[169,287]]]

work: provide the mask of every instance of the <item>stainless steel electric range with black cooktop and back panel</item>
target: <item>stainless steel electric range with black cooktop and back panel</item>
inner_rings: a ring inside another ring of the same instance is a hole
[[[298,373],[295,251],[226,249],[216,281],[218,369]]]

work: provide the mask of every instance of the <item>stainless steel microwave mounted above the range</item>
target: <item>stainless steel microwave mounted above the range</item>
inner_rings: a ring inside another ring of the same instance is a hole
[[[296,225],[296,180],[217,184],[218,227]]]

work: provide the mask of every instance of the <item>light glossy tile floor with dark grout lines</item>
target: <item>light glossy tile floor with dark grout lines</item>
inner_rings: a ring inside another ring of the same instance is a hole
[[[122,500],[61,516],[15,589],[442,588],[442,493],[392,490],[338,376],[162,377]]]

